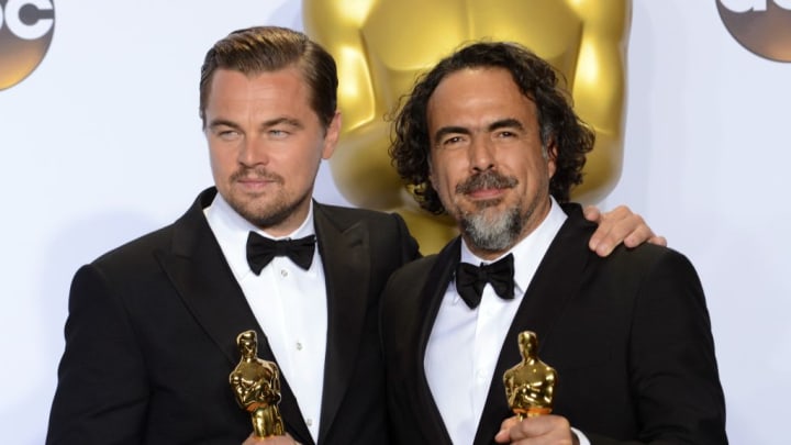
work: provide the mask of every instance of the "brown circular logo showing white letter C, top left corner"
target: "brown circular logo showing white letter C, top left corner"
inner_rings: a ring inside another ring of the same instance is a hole
[[[54,27],[52,0],[0,0],[0,90],[33,73],[49,48]]]

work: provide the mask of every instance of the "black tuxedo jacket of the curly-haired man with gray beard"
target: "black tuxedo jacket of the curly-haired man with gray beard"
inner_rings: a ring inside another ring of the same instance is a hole
[[[558,372],[555,414],[593,444],[725,444],[725,408],[709,314],[698,276],[669,248],[588,248],[595,226],[579,205],[555,237],[500,351],[475,444],[493,443],[511,415],[503,372],[520,363],[517,333],[538,336],[538,356]],[[382,297],[381,336],[391,431],[398,444],[449,444],[424,372],[439,302],[460,240],[397,271]],[[471,438],[472,440],[472,438]],[[633,442],[633,443],[634,443]]]

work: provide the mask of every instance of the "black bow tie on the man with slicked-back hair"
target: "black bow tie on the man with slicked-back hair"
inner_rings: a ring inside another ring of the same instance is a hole
[[[255,275],[276,256],[287,256],[297,266],[308,270],[313,262],[315,235],[299,240],[270,240],[255,232],[247,235],[247,263]]]

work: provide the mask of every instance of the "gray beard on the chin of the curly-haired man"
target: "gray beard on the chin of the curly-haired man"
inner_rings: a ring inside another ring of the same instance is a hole
[[[475,247],[487,252],[503,252],[516,244],[524,219],[517,207],[487,218],[482,212],[461,216],[461,233]]]

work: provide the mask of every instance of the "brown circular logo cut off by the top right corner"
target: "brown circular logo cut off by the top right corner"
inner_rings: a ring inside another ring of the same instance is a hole
[[[754,54],[791,62],[791,0],[717,0],[725,27]]]

